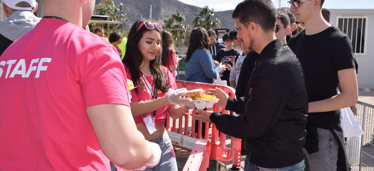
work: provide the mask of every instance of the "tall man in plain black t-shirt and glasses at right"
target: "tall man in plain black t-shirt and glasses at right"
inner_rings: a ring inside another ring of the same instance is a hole
[[[340,110],[357,103],[358,87],[349,37],[322,17],[324,0],[292,1],[305,29],[291,37],[305,74],[309,111],[304,153],[311,171],[347,171]],[[337,94],[340,84],[341,94]],[[338,150],[337,150],[338,149]]]

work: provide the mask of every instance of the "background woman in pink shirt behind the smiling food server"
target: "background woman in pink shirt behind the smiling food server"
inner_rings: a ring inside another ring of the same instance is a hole
[[[175,71],[178,66],[177,56],[175,55],[172,35],[167,31],[162,31],[162,65],[169,69],[172,75],[177,76]]]

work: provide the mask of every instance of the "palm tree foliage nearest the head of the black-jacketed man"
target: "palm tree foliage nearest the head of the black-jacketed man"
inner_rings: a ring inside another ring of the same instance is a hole
[[[192,21],[193,27],[203,27],[206,30],[211,28],[221,28],[221,17],[213,18],[214,9],[210,10],[208,6],[204,6],[200,12],[194,14]]]

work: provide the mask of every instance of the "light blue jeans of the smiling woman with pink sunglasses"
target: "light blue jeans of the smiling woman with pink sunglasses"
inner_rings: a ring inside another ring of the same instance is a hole
[[[168,133],[165,133],[158,139],[150,140],[152,143],[159,144],[161,149],[161,158],[159,164],[153,168],[145,168],[144,171],[178,171],[177,160]],[[112,171],[117,171],[114,167]]]

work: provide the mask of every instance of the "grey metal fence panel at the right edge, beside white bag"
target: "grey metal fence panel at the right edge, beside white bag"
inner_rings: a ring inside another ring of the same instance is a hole
[[[374,171],[374,105],[358,101],[351,108],[364,135],[347,138],[348,164],[352,171]]]

